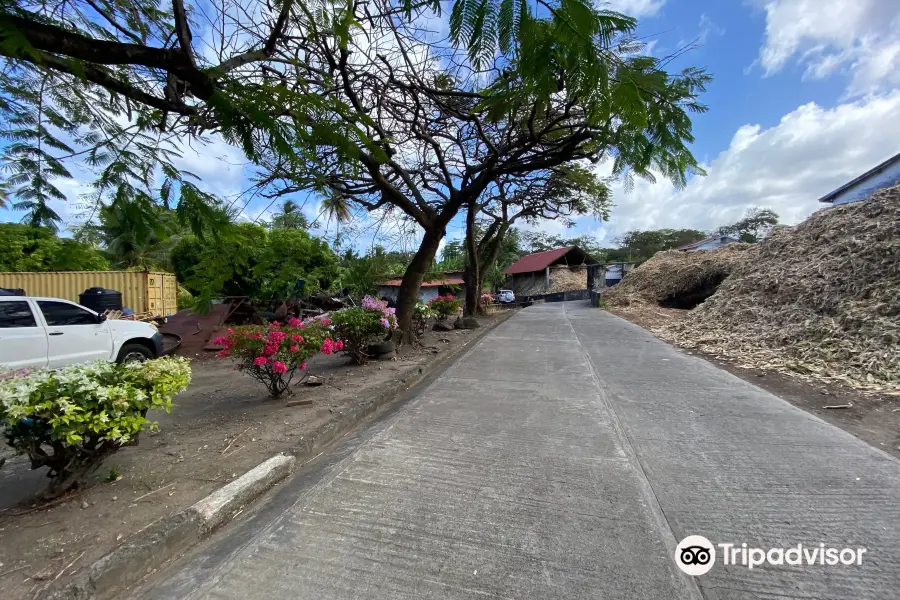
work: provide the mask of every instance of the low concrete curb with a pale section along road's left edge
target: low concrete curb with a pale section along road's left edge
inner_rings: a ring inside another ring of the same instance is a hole
[[[355,429],[378,409],[403,397],[408,389],[461,355],[516,312],[510,310],[491,327],[482,327],[465,344],[404,375],[400,379],[402,387],[381,386],[382,389],[375,391],[364,404],[339,413],[286,453],[276,454],[260,463],[193,506],[151,523],[68,580],[38,591],[35,600],[106,600],[117,597],[121,590],[202,541],[243,507],[290,475],[295,468]]]

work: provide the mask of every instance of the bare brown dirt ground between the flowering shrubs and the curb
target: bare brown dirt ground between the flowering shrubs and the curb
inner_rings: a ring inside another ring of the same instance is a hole
[[[479,317],[479,322],[490,326],[502,318]],[[0,469],[0,598],[31,598],[127,537],[287,450],[367,394],[385,386],[404,389],[407,374],[474,334],[429,331],[423,347],[404,346],[396,359],[365,366],[319,355],[309,370],[323,385],[301,384],[293,396],[278,400],[232,370],[228,360],[196,360],[193,381],[175,398],[172,413],[157,415],[158,432],[143,433],[137,446],[112,456],[86,489],[50,505],[31,500],[46,485],[43,472],[29,470],[22,457],[10,458]],[[298,399],[313,404],[286,405]]]

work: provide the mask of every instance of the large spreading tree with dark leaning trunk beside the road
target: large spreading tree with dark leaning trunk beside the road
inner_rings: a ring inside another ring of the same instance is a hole
[[[688,112],[703,110],[697,94],[707,76],[673,76],[635,53],[633,19],[580,0],[541,4],[562,5],[535,13],[503,0],[488,18],[489,2],[457,2],[451,33],[479,46],[468,57],[416,25],[431,16],[424,6],[402,18],[403,3],[352,2],[291,23],[296,40],[285,60],[296,60],[286,81],[351,106],[323,110],[315,122],[353,125],[366,143],[320,141],[303,151],[315,163],[273,152],[261,184],[280,194],[318,189],[419,225],[398,294],[404,331],[447,225],[496,181],[583,160],[612,160],[614,175],[650,177],[652,169],[679,185],[697,169]],[[468,8],[483,18],[473,21]],[[336,37],[348,20],[358,30]]]

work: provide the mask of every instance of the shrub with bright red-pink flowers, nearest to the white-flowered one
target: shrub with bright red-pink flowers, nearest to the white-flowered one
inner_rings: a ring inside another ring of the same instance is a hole
[[[290,393],[294,375],[306,370],[311,356],[343,347],[339,340],[331,339],[325,319],[302,323],[295,317],[284,325],[273,321],[264,327],[235,327],[213,343],[224,346],[220,358],[237,360],[238,369],[263,383],[273,398]]]

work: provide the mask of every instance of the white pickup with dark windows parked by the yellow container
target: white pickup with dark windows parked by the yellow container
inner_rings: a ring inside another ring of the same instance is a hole
[[[163,336],[141,321],[107,320],[59,298],[0,296],[0,365],[58,368],[89,360],[147,360]]]

